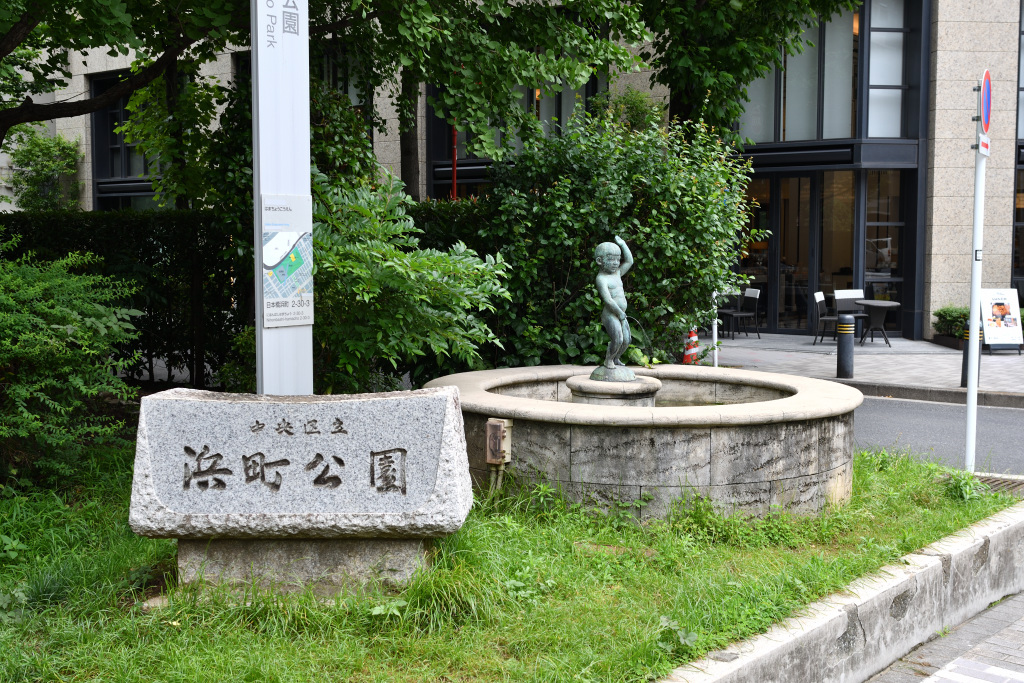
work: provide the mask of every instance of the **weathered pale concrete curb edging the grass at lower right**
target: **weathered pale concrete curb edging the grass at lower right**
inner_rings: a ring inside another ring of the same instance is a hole
[[[663,683],[864,681],[944,627],[1024,590],[1024,503],[902,560]]]

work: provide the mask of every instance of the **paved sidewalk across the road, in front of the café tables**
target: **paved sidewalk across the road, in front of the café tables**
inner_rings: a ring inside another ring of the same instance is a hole
[[[959,386],[963,352],[928,341],[890,337],[892,347],[876,333],[854,344],[853,380],[843,380],[865,395],[943,402],[967,401]],[[719,365],[769,373],[836,379],[837,344],[831,338],[813,344],[808,335],[761,333],[721,339]],[[700,337],[701,344],[711,341]],[[709,356],[705,362],[711,362]],[[981,405],[1024,408],[1024,355],[1016,351],[981,354],[978,383]]]

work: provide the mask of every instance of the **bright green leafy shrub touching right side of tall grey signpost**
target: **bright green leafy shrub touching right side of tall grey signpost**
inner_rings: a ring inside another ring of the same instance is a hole
[[[507,296],[504,264],[462,244],[420,249],[409,204],[390,175],[352,189],[313,176],[317,392],[383,388],[428,351],[473,364],[497,342],[479,314]]]

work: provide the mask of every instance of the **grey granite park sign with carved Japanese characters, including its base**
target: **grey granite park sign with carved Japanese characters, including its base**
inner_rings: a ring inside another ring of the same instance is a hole
[[[180,579],[407,581],[472,505],[458,390],[142,399],[130,523]]]

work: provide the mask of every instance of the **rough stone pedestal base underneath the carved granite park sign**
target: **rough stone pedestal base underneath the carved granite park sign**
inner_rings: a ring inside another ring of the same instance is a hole
[[[333,595],[402,586],[429,566],[431,547],[429,539],[179,539],[178,579]]]

